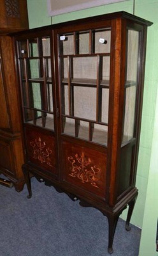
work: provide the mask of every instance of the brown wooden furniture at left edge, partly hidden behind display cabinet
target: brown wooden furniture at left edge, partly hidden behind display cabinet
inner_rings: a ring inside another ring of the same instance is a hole
[[[0,1],[0,174],[15,185],[24,187],[20,111],[13,42],[7,33],[28,28],[25,0]]]

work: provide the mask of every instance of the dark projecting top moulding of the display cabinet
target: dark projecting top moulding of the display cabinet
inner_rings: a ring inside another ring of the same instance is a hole
[[[58,24],[43,26],[43,28],[45,28],[45,32],[46,32],[47,29],[49,31],[51,29],[62,28],[63,24],[64,24],[64,28],[66,28],[66,26],[73,26],[73,25],[77,26],[77,25],[81,24],[82,22],[84,22],[84,26],[86,25],[86,23],[89,23],[89,22],[95,23],[97,21],[99,21],[101,24],[101,22],[103,22],[104,20],[111,20],[111,19],[126,19],[129,21],[131,20],[133,22],[137,22],[139,24],[143,24],[143,25],[147,25],[147,26],[151,26],[153,24],[153,22],[150,22],[149,20],[145,20],[145,19],[135,16],[131,13],[122,11],[122,12],[113,12],[113,13],[107,13],[107,14],[103,14],[103,15],[97,15],[97,16],[93,16],[93,17],[87,17],[87,18],[78,19],[78,20],[71,20],[71,21],[67,21],[67,22],[61,22]],[[31,32],[32,32],[32,38],[34,38],[35,31],[36,31],[36,35],[37,35],[38,31],[39,31],[39,36],[41,35],[41,27],[40,27],[40,28],[27,29],[25,31],[21,31],[20,33],[19,32],[10,33],[10,36],[24,35],[24,37],[25,37],[25,35],[27,35],[28,31],[29,31],[30,38],[31,38]]]

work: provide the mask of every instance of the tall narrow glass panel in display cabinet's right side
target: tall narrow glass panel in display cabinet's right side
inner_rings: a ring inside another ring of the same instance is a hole
[[[134,137],[139,36],[138,31],[131,29],[127,31],[127,74],[125,84],[124,131],[122,143],[125,143]]]

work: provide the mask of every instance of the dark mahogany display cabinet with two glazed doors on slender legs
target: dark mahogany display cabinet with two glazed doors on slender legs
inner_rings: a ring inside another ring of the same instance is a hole
[[[14,33],[30,175],[108,218],[109,244],[121,212],[126,229],[138,195],[147,26],[126,12]]]

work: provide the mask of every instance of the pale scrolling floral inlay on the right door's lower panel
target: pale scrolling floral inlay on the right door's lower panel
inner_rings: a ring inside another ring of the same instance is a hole
[[[79,157],[78,154],[75,155],[75,158],[72,156],[68,157],[69,163],[71,163],[71,177],[77,177],[82,181],[82,183],[90,182],[90,184],[96,188],[99,188],[96,184],[97,180],[96,174],[101,172],[101,169],[97,168],[96,165],[92,166],[90,158],[87,159],[85,154]]]

